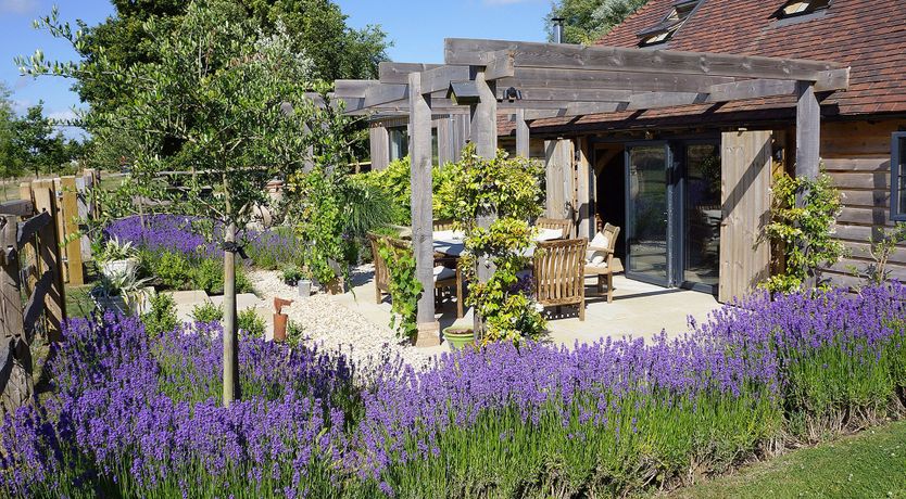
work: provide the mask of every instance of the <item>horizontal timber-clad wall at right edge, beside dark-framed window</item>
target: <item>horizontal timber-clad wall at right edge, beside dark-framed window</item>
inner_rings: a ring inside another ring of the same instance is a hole
[[[854,271],[872,263],[869,242],[890,220],[891,135],[906,128],[906,119],[825,123],[821,158],[843,197],[836,235],[850,255],[827,269],[840,285],[861,282]],[[891,277],[906,281],[906,246],[889,264]]]

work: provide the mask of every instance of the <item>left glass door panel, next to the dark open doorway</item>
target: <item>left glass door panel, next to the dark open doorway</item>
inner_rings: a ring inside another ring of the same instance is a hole
[[[666,142],[627,146],[626,276],[665,287],[672,284],[670,164]]]

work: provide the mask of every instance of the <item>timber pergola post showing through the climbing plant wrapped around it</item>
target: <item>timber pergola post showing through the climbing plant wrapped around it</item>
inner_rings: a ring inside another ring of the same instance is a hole
[[[498,154],[498,100],[496,82],[488,81],[485,75],[485,66],[471,66],[475,76],[475,85],[480,95],[477,104],[469,106],[471,124],[471,142],[475,143],[476,152],[485,159],[493,159]],[[478,216],[478,227],[487,229],[496,219],[496,214],[486,213]],[[487,258],[478,260],[478,281],[488,282],[494,269]],[[479,315],[475,314],[476,337],[483,336],[485,324]]]

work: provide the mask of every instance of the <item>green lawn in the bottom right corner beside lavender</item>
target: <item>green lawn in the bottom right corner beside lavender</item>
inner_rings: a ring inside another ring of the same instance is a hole
[[[671,498],[906,498],[906,422],[801,449]]]

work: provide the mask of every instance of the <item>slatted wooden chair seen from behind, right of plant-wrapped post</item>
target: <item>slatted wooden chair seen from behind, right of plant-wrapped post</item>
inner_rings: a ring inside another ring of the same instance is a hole
[[[543,307],[579,307],[586,320],[584,264],[588,240],[568,239],[538,243],[534,250],[534,285]]]

